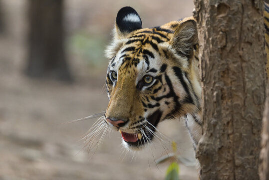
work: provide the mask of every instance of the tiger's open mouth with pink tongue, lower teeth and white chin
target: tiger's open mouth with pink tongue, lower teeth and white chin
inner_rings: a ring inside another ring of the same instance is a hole
[[[122,130],[119,130],[123,140],[129,145],[129,147],[141,147],[146,143],[150,143],[155,134],[156,126],[158,125],[162,112],[157,110],[153,114],[151,114],[147,121],[149,124],[141,125],[138,127],[139,132],[136,133],[128,133]]]

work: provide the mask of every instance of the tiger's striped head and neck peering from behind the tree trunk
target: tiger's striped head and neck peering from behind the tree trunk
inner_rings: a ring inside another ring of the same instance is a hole
[[[156,138],[161,121],[183,117],[196,148],[202,127],[198,49],[193,17],[142,28],[135,9],[118,11],[106,49],[104,118],[125,146],[141,149]]]

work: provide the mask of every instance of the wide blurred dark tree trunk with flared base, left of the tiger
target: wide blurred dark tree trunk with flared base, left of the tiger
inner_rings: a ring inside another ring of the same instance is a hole
[[[29,0],[27,74],[71,80],[63,43],[63,0]]]

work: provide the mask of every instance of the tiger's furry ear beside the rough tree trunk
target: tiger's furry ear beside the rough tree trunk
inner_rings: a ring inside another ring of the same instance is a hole
[[[183,22],[175,27],[170,44],[180,56],[185,56],[188,59],[193,57],[198,44],[196,21],[192,18],[183,19]]]

